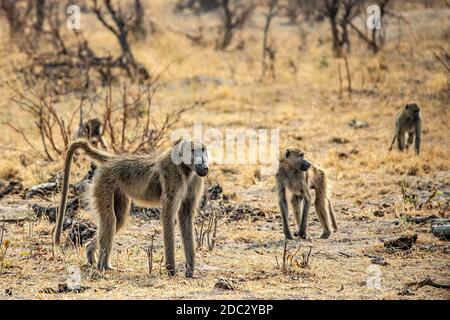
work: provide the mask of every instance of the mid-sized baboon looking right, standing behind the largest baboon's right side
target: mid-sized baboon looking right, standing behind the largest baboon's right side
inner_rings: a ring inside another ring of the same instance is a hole
[[[308,212],[311,205],[310,190],[315,190],[314,206],[323,232],[320,236],[327,239],[333,231],[337,231],[336,217],[331,199],[328,196],[327,178],[325,171],[317,164],[312,164],[305,159],[305,153],[297,148],[289,148],[280,156],[280,164],[276,173],[278,189],[278,203],[283,220],[283,232],[285,238],[292,239],[289,230],[289,209],[286,200],[286,189],[291,192],[291,205],[297,222],[298,231],[295,236],[306,239],[308,227]],[[303,210],[300,205],[303,202]],[[333,228],[330,225],[333,224]],[[334,229],[334,230],[333,230]]]

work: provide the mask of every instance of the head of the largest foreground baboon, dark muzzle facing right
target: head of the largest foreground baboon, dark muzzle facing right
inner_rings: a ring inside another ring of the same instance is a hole
[[[175,151],[175,152],[174,152]],[[198,176],[208,174],[209,154],[206,146],[201,142],[178,140],[172,150],[172,161],[175,164],[184,164]]]

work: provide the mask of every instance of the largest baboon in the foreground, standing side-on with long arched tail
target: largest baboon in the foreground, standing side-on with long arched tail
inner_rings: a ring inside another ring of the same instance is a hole
[[[72,142],[64,164],[61,206],[54,233],[59,246],[67,203],[72,157],[77,149],[99,163],[93,178],[90,200],[98,216],[98,233],[86,249],[88,263],[100,270],[111,269],[110,255],[115,234],[125,225],[130,202],[143,206],[161,205],[166,269],[175,270],[174,224],[177,219],[186,257],[186,277],[194,273],[193,216],[203,194],[203,177],[208,174],[208,152],[201,143],[180,140],[159,156],[110,155],[92,147],[85,139]]]

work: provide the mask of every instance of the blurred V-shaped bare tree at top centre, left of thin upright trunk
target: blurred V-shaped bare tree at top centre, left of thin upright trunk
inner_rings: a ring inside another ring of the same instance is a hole
[[[220,39],[216,48],[227,49],[236,31],[241,30],[248,18],[255,10],[255,3],[252,0],[220,0],[221,21]]]

